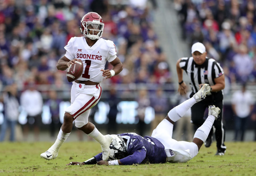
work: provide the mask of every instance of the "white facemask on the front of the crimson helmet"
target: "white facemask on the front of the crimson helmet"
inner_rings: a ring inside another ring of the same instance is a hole
[[[99,39],[102,37],[104,23],[99,22],[99,20],[93,20],[92,22],[84,22],[81,20],[81,25],[82,28],[80,29],[84,36],[90,38],[91,40]],[[92,31],[92,34],[90,34],[89,31]],[[95,31],[98,33],[94,35]]]

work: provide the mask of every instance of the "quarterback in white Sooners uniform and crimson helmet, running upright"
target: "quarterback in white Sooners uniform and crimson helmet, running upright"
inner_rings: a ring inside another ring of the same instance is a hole
[[[81,32],[85,37],[72,37],[64,47],[66,54],[57,63],[58,70],[66,70],[70,64],[81,59],[83,62],[82,75],[73,82],[71,88],[71,105],[65,110],[64,122],[55,143],[40,156],[51,160],[57,157],[59,148],[67,139],[72,123],[93,137],[101,144],[102,158],[109,157],[109,145],[112,141],[110,135],[102,135],[90,122],[88,117],[90,109],[95,106],[101,97],[101,83],[105,79],[119,74],[122,63],[116,56],[117,50],[113,41],[102,39],[104,23],[99,14],[89,12],[81,20]],[[104,70],[106,61],[113,65],[112,70]]]

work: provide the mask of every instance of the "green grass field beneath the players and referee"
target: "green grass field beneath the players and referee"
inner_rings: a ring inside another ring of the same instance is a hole
[[[215,143],[204,146],[187,163],[142,164],[132,166],[66,166],[70,161],[85,161],[101,150],[96,142],[66,142],[55,160],[40,154],[52,143],[0,143],[0,175],[256,175],[256,143],[226,142],[224,156],[214,156]]]

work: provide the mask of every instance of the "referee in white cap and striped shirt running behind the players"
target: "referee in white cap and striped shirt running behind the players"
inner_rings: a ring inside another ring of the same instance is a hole
[[[177,61],[176,68],[179,79],[178,92],[181,95],[186,93],[186,84],[183,82],[183,70],[190,78],[190,86],[192,97],[203,84],[207,83],[211,86],[211,92],[207,94],[206,98],[191,107],[191,120],[197,127],[201,126],[205,121],[203,119],[205,109],[209,105],[215,105],[221,109],[219,118],[214,121],[210,134],[205,142],[205,147],[210,147],[212,136],[215,130],[215,138],[217,141],[217,153],[215,155],[224,155],[226,151],[225,130],[222,122],[223,115],[223,91],[225,88],[225,77],[223,69],[214,59],[207,58],[205,46],[202,43],[195,43],[192,45],[192,57],[183,57]]]

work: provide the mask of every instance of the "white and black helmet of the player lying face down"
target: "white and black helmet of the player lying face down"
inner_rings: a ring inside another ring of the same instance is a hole
[[[126,144],[123,138],[115,134],[112,134],[111,137],[112,137],[112,142],[110,143],[110,146],[109,146],[110,148],[109,159],[118,160],[128,156],[127,150],[126,150]]]

